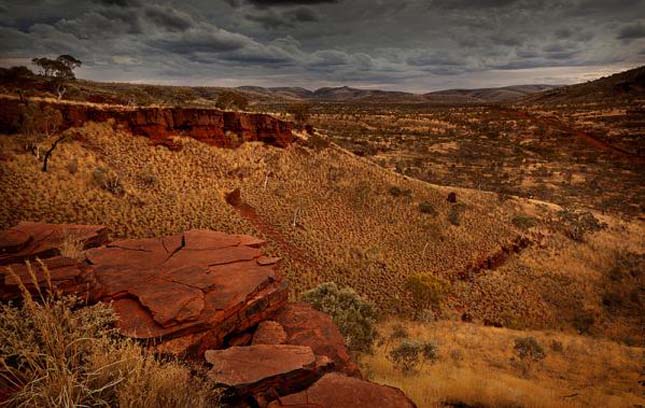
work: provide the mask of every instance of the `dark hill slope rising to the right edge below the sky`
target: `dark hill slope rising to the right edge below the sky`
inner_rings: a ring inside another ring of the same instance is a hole
[[[531,95],[522,102],[562,104],[637,98],[645,98],[645,66]]]

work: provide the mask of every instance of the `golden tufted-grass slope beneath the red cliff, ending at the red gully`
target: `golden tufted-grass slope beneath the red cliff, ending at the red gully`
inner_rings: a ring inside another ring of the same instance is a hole
[[[0,162],[6,203],[0,226],[24,219],[104,224],[116,237],[189,228],[251,233],[266,237],[269,250],[283,257],[294,295],[336,281],[395,312],[410,305],[408,275],[453,275],[514,235],[487,214],[494,202],[462,194],[467,210],[461,226],[452,226],[446,191],[333,146],[281,150],[246,143],[228,150],[181,139],[183,151],[170,152],[110,124],[76,132],[76,141],[59,146],[47,173],[21,153],[17,138],[0,141],[3,151],[13,152],[11,160]],[[71,161],[78,164],[73,174]],[[123,193],[97,185],[97,168],[118,175]],[[411,196],[392,197],[393,185]],[[259,224],[225,202],[225,193],[235,188],[255,208]],[[419,212],[423,201],[438,215]]]

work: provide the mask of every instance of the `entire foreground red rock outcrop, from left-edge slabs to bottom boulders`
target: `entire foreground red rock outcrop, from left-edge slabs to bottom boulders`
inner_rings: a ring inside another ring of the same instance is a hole
[[[76,259],[60,249],[70,236],[85,248]],[[0,232],[0,299],[23,282],[110,302],[122,335],[210,368],[234,406],[414,407],[361,378],[329,316],[287,302],[263,244],[207,230],[109,242],[102,226],[23,222]],[[36,257],[49,274],[32,278],[24,261]]]

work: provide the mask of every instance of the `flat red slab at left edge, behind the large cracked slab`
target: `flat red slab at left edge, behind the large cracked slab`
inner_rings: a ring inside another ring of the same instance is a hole
[[[100,225],[21,222],[0,232],[0,265],[61,255],[66,240],[83,248],[107,242],[107,228]]]

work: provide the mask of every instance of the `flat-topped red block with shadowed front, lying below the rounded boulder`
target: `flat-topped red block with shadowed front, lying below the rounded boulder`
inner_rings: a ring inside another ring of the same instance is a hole
[[[206,351],[205,357],[213,365],[209,377],[216,385],[226,387],[235,399],[302,390],[330,368],[329,359],[316,358],[305,346],[231,347]]]

